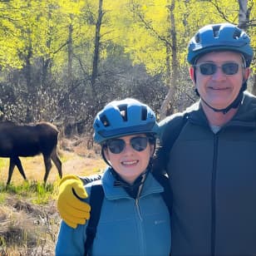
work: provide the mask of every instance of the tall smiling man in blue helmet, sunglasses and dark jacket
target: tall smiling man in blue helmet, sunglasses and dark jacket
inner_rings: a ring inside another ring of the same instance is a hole
[[[252,58],[248,35],[229,23],[202,27],[190,41],[199,102],[160,122],[158,158],[173,194],[172,256],[256,255],[256,98],[246,92]],[[61,188],[66,199],[74,182]],[[77,224],[89,215],[82,207],[59,209]]]

